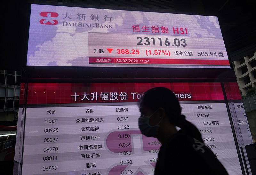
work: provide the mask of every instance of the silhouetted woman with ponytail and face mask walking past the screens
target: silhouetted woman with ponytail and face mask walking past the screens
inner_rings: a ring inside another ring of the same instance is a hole
[[[163,87],[149,89],[139,103],[139,128],[161,143],[155,175],[228,174],[212,151],[204,145],[200,132],[181,115],[175,94]],[[181,129],[177,131],[176,126]]]

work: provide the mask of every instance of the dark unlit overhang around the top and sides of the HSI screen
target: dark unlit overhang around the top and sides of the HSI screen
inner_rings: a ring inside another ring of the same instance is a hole
[[[7,1],[2,5],[4,22],[0,69],[21,70],[28,39],[29,4],[58,4],[120,10],[158,11],[218,16],[231,60],[256,51],[255,0],[26,0]]]

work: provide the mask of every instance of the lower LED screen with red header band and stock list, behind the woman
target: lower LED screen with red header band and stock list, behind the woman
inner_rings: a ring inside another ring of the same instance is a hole
[[[161,143],[138,128],[140,96],[170,88],[229,174],[242,174],[220,83],[29,83],[22,174],[154,174]]]

